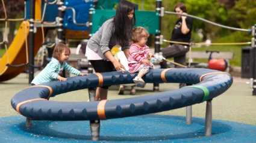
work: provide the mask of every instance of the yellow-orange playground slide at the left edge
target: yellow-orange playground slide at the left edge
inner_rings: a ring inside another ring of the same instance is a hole
[[[25,28],[27,26],[27,28]],[[27,43],[29,43],[28,34],[30,31],[30,23],[28,21],[23,21],[20,24],[19,31],[17,32],[13,42],[11,42],[10,47],[7,50],[8,53],[8,63],[10,65],[20,65],[22,63],[27,63],[27,52],[26,52],[26,37]],[[34,42],[34,56],[36,56],[37,51],[42,45],[42,29],[38,28],[35,34]],[[28,47],[29,51],[29,47]],[[22,66],[19,68],[13,68],[6,66],[7,64],[7,53],[0,59],[0,81],[10,80],[16,77],[22,71],[24,71],[27,66]]]

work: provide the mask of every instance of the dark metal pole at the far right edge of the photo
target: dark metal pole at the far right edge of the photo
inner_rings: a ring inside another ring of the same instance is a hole
[[[255,50],[255,45],[256,45],[256,41],[255,41],[255,39],[256,39],[256,25],[254,25],[254,28],[252,28],[253,30],[254,30],[254,32],[252,32],[253,34],[254,34],[254,41],[252,41],[252,43],[254,43],[254,44],[252,44],[252,51],[254,51],[254,55],[253,55],[253,62],[254,62],[254,66],[252,67],[253,69],[253,73],[252,73],[252,75],[253,75],[253,86],[252,86],[252,95],[256,95],[256,65],[255,65],[255,63],[256,63],[256,50]]]

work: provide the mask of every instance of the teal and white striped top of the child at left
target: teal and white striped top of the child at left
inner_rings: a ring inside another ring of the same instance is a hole
[[[31,84],[41,84],[41,83],[46,83],[48,81],[56,80],[58,75],[62,74],[63,69],[66,71],[75,74],[75,75],[80,75],[80,71],[77,69],[73,68],[72,66],[68,65],[66,62],[61,63],[58,62],[57,59],[52,57],[51,62],[48,63],[48,65],[43,69],[31,82]]]

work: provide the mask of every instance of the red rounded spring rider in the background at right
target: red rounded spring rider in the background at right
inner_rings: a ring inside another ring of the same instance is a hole
[[[210,52],[210,56],[208,59],[208,68],[209,69],[216,69],[218,71],[225,71],[226,68],[228,68],[228,60],[227,59],[214,59],[211,57],[211,54],[213,54],[214,52],[219,53],[219,50],[217,51],[209,51],[206,50],[206,53]]]

